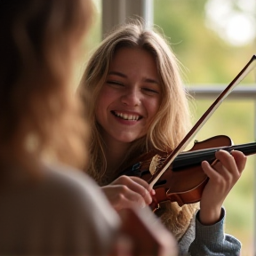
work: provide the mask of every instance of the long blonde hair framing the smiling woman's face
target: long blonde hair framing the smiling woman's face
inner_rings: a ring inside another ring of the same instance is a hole
[[[132,142],[127,158],[132,157],[132,152],[138,156],[138,151],[148,151],[150,148],[170,151],[178,145],[190,127],[188,98],[180,78],[179,61],[168,41],[156,30],[145,28],[138,20],[114,28],[92,54],[79,88],[80,92],[86,90],[92,99],[96,99],[88,106],[92,123],[91,160],[88,172],[98,181],[106,174],[107,163],[104,142],[100,137],[100,125],[95,118],[95,106],[108,74],[109,63],[116,50],[122,47],[140,47],[153,54],[163,96],[148,134]]]

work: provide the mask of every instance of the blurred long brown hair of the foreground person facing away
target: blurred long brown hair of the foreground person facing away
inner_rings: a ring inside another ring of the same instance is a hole
[[[90,0],[1,1],[0,166],[46,156],[84,164],[86,127],[71,82],[91,21]]]

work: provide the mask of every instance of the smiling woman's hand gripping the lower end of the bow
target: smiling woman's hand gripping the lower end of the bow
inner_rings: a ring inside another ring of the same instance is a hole
[[[151,204],[155,190],[138,177],[120,176],[108,186],[102,187],[108,201],[120,211],[127,208],[144,208]]]

